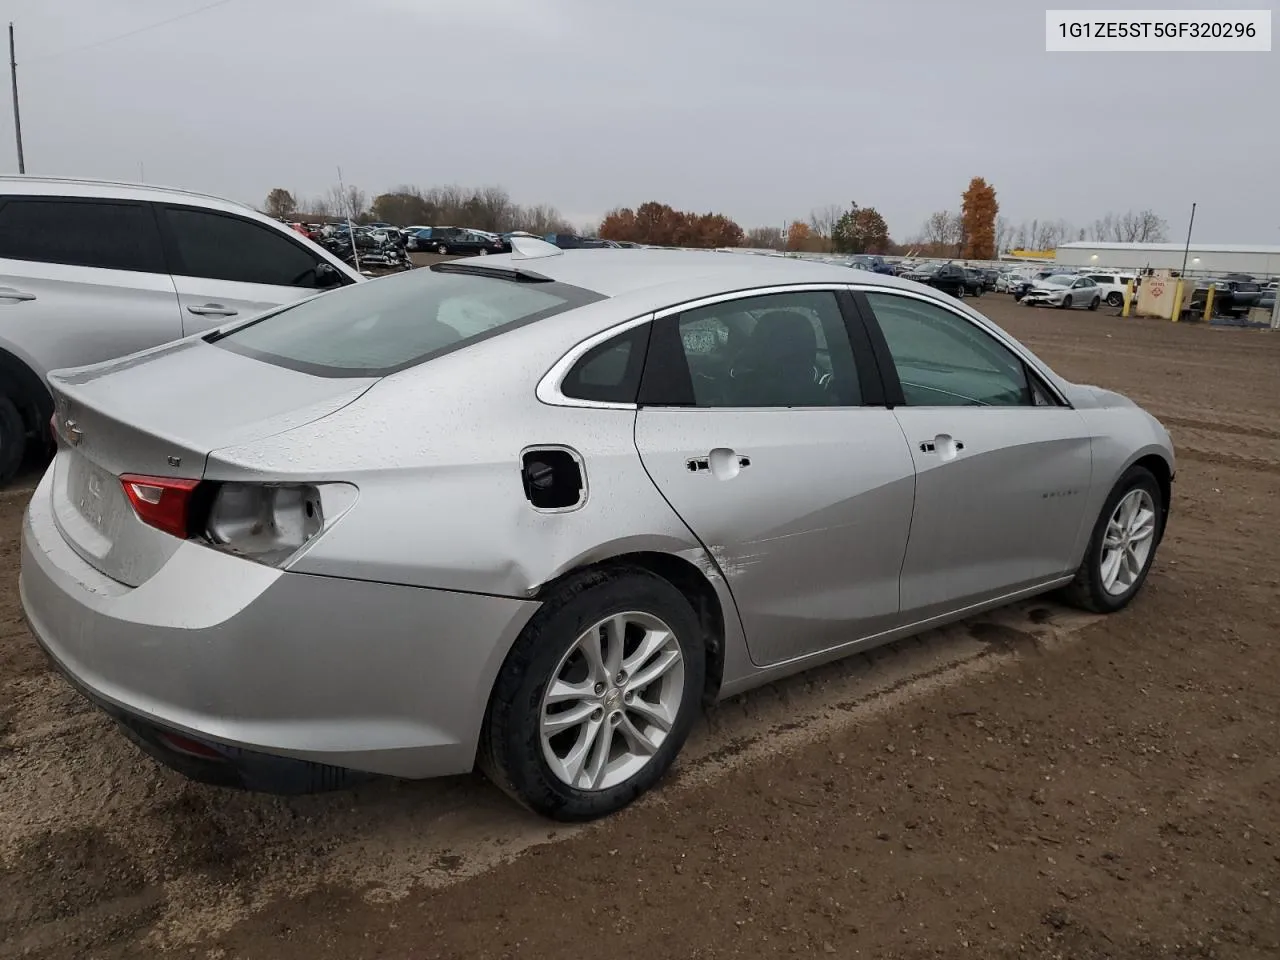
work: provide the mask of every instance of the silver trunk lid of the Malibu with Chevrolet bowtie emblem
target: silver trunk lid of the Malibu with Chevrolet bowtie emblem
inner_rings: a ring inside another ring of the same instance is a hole
[[[188,339],[54,371],[49,383],[58,527],[86,562],[137,586],[182,541],[138,518],[122,475],[200,480],[211,451],[325,417],[375,380],[312,376]]]

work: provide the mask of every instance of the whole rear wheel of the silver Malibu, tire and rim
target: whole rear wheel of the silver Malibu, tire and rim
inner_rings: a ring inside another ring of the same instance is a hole
[[[669,582],[640,568],[573,579],[534,614],[503,663],[480,767],[544,817],[611,814],[671,767],[704,673],[703,628]]]

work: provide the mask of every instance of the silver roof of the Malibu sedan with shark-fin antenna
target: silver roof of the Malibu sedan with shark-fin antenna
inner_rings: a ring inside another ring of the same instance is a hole
[[[559,255],[512,260],[485,257],[486,268],[509,266],[582,287],[607,297],[643,293],[681,284],[705,288],[701,296],[787,283],[869,283],[916,289],[908,280],[799,257],[758,256],[699,250],[622,250],[596,247]]]

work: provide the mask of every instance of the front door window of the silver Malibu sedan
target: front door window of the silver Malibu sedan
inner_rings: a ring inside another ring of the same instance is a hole
[[[914,297],[867,293],[911,407],[1034,406],[1027,369],[975,324]]]

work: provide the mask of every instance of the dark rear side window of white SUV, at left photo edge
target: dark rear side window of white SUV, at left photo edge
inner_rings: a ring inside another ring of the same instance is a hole
[[[168,273],[146,204],[15,197],[0,206],[0,257]]]

